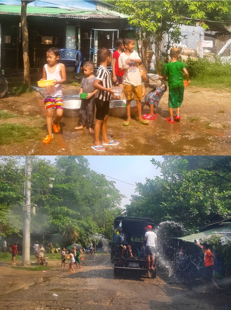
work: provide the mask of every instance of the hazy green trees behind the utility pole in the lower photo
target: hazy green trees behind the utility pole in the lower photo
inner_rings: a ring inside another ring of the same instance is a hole
[[[85,245],[91,234],[104,234],[110,225],[112,229],[112,216],[121,213],[119,205],[124,196],[113,181],[90,170],[84,157],[80,157],[79,161],[75,156],[59,156],[52,164],[48,160],[34,158],[31,203],[38,207],[31,219],[32,231],[60,233],[65,242],[78,239]],[[1,162],[1,167],[0,212],[6,225],[4,234],[19,233],[25,167],[19,166],[13,157]],[[54,178],[52,190],[48,187],[50,178]]]

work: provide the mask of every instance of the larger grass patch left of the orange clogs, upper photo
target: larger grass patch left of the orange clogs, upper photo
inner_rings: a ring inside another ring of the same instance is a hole
[[[22,143],[29,139],[39,139],[43,133],[40,127],[29,127],[23,124],[2,124],[0,125],[0,131],[0,145],[13,142]]]

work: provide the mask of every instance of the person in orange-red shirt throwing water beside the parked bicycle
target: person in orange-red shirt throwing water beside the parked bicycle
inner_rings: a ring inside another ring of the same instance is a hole
[[[216,264],[216,258],[212,254],[211,250],[209,249],[209,245],[207,242],[204,242],[202,246],[200,245],[200,241],[198,241],[197,246],[199,246],[201,249],[204,249],[205,255],[205,272],[204,272],[204,284],[205,284],[205,290],[203,293],[208,293],[207,290],[207,282],[210,281],[211,285],[213,285],[216,289],[220,289],[219,286],[216,284],[216,282],[213,280],[213,270],[215,269]]]

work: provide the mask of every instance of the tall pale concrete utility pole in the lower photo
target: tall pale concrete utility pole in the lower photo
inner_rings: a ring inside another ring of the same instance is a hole
[[[25,200],[23,206],[22,265],[30,265],[30,191],[31,191],[31,156],[25,160]]]

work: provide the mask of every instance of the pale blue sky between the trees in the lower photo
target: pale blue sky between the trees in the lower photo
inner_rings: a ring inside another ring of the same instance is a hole
[[[54,162],[56,156],[39,156]],[[84,156],[87,158],[90,169],[106,176],[106,179],[113,180],[116,188],[127,198],[123,198],[121,207],[130,203],[131,195],[135,193],[136,183],[145,183],[147,179],[154,179],[160,175],[160,170],[150,162],[152,158],[163,161],[162,156]],[[127,182],[129,185],[123,182]]]

